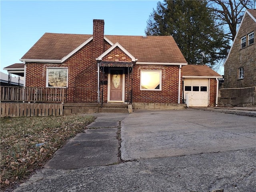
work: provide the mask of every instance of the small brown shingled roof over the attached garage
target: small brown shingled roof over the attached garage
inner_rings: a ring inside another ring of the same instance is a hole
[[[182,76],[207,76],[221,77],[220,74],[212,70],[207,65],[186,65],[183,66]]]

